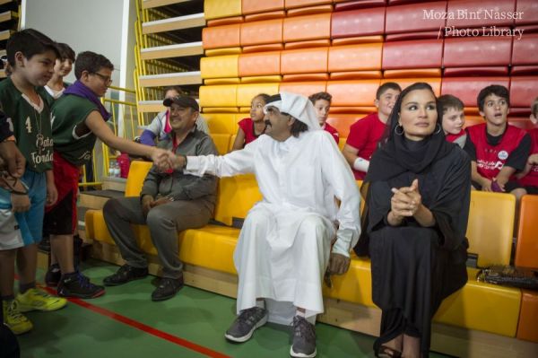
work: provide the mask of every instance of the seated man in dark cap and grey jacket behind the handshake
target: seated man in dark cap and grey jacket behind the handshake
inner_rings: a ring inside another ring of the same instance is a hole
[[[209,155],[217,150],[209,135],[195,127],[198,103],[187,96],[164,100],[169,107],[171,132],[160,148],[178,155]],[[178,232],[201,228],[213,216],[217,179],[194,176],[184,170],[161,172],[153,166],[140,197],[119,197],[103,207],[105,223],[126,265],[104,279],[107,286],[126,284],[148,275],[148,261],[137,246],[132,223],[147,224],[161,259],[162,278],[152,301],[172,298],[183,287],[183,264],[178,258]]]

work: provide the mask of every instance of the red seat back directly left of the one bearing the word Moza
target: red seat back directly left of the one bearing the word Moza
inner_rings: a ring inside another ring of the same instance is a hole
[[[385,7],[333,13],[333,39],[382,35],[384,31]]]

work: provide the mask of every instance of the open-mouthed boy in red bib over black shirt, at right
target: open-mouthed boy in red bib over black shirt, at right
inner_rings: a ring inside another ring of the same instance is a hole
[[[467,127],[464,150],[471,157],[473,187],[483,191],[512,193],[519,200],[526,194],[516,181],[516,172],[525,169],[531,137],[523,129],[508,125],[508,89],[492,84],[477,98],[486,123]]]

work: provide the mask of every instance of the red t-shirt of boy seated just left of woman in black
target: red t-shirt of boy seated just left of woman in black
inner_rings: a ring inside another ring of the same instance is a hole
[[[358,149],[358,156],[362,159],[370,160],[372,154],[377,149],[377,143],[385,132],[386,124],[381,122],[377,113],[370,113],[365,118],[359,119],[350,127],[350,135],[345,144],[351,145]],[[353,170],[355,179],[362,180],[366,176],[366,172]]]

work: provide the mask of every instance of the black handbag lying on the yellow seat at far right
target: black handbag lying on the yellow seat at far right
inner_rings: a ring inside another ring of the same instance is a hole
[[[496,265],[484,268],[476,275],[476,280],[488,284],[538,290],[538,271],[514,266]]]

